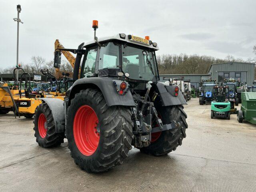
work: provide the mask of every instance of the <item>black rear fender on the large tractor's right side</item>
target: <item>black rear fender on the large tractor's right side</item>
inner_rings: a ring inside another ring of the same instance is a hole
[[[172,106],[172,105],[184,105],[187,104],[182,92],[179,90],[178,96],[174,94],[174,88],[176,85],[169,85],[169,83],[157,82],[156,87],[162,100],[163,106]]]

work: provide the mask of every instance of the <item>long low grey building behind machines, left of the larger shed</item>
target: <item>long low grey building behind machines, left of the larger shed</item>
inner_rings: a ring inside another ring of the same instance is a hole
[[[201,79],[210,79],[210,74],[167,74],[159,75],[160,81],[165,82],[164,78],[175,78],[175,77],[184,77],[184,80],[190,80],[190,83],[194,85],[196,89],[200,87]]]

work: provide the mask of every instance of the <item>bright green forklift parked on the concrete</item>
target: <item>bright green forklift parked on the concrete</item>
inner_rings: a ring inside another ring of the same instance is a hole
[[[214,101],[211,103],[211,118],[230,119],[230,101],[228,86],[216,85],[213,90]]]

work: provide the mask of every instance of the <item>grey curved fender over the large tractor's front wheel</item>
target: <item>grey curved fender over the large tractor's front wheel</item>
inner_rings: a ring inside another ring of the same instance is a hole
[[[42,103],[47,103],[55,124],[56,133],[65,131],[65,110],[64,101],[58,98],[42,98]]]

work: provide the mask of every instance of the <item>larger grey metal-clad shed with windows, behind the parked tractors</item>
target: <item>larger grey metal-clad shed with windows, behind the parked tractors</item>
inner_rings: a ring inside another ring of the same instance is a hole
[[[254,82],[254,63],[246,62],[226,62],[212,64],[208,70],[212,79],[222,82],[224,79],[235,79],[252,85]]]

